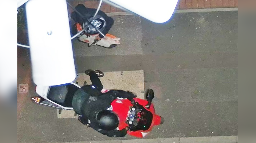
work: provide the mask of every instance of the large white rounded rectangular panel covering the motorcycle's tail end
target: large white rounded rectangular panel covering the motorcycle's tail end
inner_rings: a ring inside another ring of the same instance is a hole
[[[34,83],[72,82],[76,72],[66,0],[29,0],[26,12]]]

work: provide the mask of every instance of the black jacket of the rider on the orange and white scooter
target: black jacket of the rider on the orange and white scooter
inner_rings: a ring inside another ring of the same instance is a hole
[[[85,7],[83,4],[79,4],[75,7],[75,9],[80,12],[87,20],[92,17],[97,9],[94,8],[87,8]],[[103,17],[106,21],[106,27],[102,32],[102,34],[106,35],[108,33],[108,31],[110,30],[110,28],[112,27],[114,21],[112,18],[108,17],[108,15],[106,13],[104,13],[103,11],[99,10],[98,14],[101,17]],[[84,19],[78,15],[75,11],[71,13],[70,17],[75,21],[78,22],[80,25],[83,25]],[[101,38],[103,38],[104,36],[100,35]]]

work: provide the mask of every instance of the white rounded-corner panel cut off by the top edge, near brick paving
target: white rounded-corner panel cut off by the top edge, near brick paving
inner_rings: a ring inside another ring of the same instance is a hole
[[[178,0],[107,0],[126,8],[150,21],[164,23],[168,21],[178,3]],[[106,1],[106,2],[107,2]]]

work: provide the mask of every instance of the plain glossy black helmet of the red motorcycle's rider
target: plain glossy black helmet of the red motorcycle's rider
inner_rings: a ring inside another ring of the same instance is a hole
[[[103,130],[114,130],[119,125],[119,120],[116,114],[109,110],[103,110],[99,112],[96,116],[101,129]]]

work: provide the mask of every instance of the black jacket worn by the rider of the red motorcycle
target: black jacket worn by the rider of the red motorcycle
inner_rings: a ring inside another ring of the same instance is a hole
[[[88,92],[89,90],[89,92],[92,92],[93,89],[88,88],[88,86],[89,85],[81,87],[79,90],[85,90],[85,92]],[[97,91],[95,90],[95,92]],[[90,127],[102,133],[103,135],[107,135],[110,137],[125,136],[127,134],[127,131],[125,129],[121,131],[116,129],[111,131],[101,129],[98,122],[96,121],[96,115],[100,111],[106,110],[108,107],[110,107],[111,102],[115,100],[117,97],[127,98],[131,101],[136,96],[133,93],[126,92],[123,90],[110,90],[107,93],[101,93],[100,95],[97,94],[98,93],[89,95],[89,97],[86,98],[86,101],[83,102],[81,108],[82,117],[80,118],[81,122],[86,124],[89,119]]]

